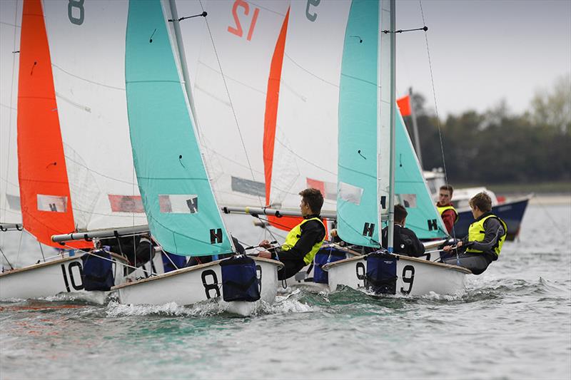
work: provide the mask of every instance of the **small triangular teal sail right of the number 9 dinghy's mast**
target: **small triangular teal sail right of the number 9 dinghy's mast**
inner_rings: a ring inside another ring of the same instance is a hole
[[[413,230],[419,239],[446,237],[448,233],[430,197],[400,111],[395,128],[395,205],[406,207],[406,227]]]

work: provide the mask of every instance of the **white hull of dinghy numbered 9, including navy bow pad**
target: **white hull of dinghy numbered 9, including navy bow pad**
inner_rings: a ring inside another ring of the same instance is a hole
[[[375,294],[422,296],[463,292],[469,269],[389,253],[351,257],[324,265],[329,287],[368,289]]]

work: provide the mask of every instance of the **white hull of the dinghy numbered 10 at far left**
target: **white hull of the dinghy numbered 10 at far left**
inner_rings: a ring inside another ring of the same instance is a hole
[[[122,257],[112,256],[115,284],[123,282]],[[86,292],[81,279],[81,255],[41,262],[0,274],[0,299],[34,299],[61,293]]]

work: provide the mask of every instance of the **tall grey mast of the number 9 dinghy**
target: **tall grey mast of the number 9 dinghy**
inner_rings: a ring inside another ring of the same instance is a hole
[[[393,235],[395,231],[395,121],[396,121],[396,18],[395,0],[390,0],[390,167],[388,189],[388,245],[389,253],[393,253]]]

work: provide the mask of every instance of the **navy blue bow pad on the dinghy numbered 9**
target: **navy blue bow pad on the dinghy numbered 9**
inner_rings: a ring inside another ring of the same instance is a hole
[[[396,294],[397,260],[387,250],[367,255],[366,284],[376,294]]]

